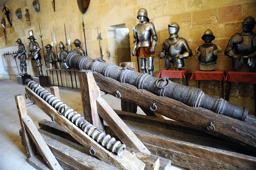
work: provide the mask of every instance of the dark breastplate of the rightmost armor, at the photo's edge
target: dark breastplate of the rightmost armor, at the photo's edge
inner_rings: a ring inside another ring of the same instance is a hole
[[[247,56],[256,51],[256,47],[253,46],[252,40],[256,35],[241,35],[243,37],[242,42],[237,43],[235,51],[237,54]]]

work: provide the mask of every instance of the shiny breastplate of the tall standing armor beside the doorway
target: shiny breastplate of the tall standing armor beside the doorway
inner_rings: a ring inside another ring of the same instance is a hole
[[[149,47],[151,46],[151,32],[150,32],[150,25],[146,23],[144,25],[138,25],[138,47]]]

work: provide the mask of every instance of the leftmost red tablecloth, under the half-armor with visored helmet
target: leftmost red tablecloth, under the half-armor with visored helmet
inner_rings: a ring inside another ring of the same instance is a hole
[[[168,76],[169,78],[183,78],[185,79],[186,74],[191,73],[189,69],[182,70],[161,70],[158,74],[158,78]]]

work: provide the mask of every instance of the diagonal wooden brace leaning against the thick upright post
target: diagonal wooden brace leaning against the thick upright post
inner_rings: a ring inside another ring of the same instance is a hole
[[[97,98],[97,108],[99,115],[105,120],[106,124],[114,131],[115,135],[127,146],[140,151],[141,153],[150,154],[150,151],[135,136],[132,130],[126,126],[115,111],[106,103],[103,98]]]

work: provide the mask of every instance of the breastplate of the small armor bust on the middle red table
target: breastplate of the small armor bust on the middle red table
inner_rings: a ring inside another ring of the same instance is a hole
[[[216,63],[218,56],[213,54],[213,51],[217,50],[218,47],[215,44],[203,44],[199,46],[200,56],[198,60],[200,63],[212,64]]]

